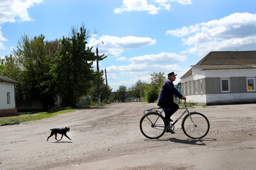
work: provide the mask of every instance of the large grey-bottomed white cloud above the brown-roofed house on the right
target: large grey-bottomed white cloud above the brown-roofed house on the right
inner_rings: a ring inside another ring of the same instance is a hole
[[[166,31],[166,35],[181,37],[183,44],[192,46],[182,51],[205,55],[256,40],[256,14],[234,13],[219,20],[199,23],[194,26]]]

